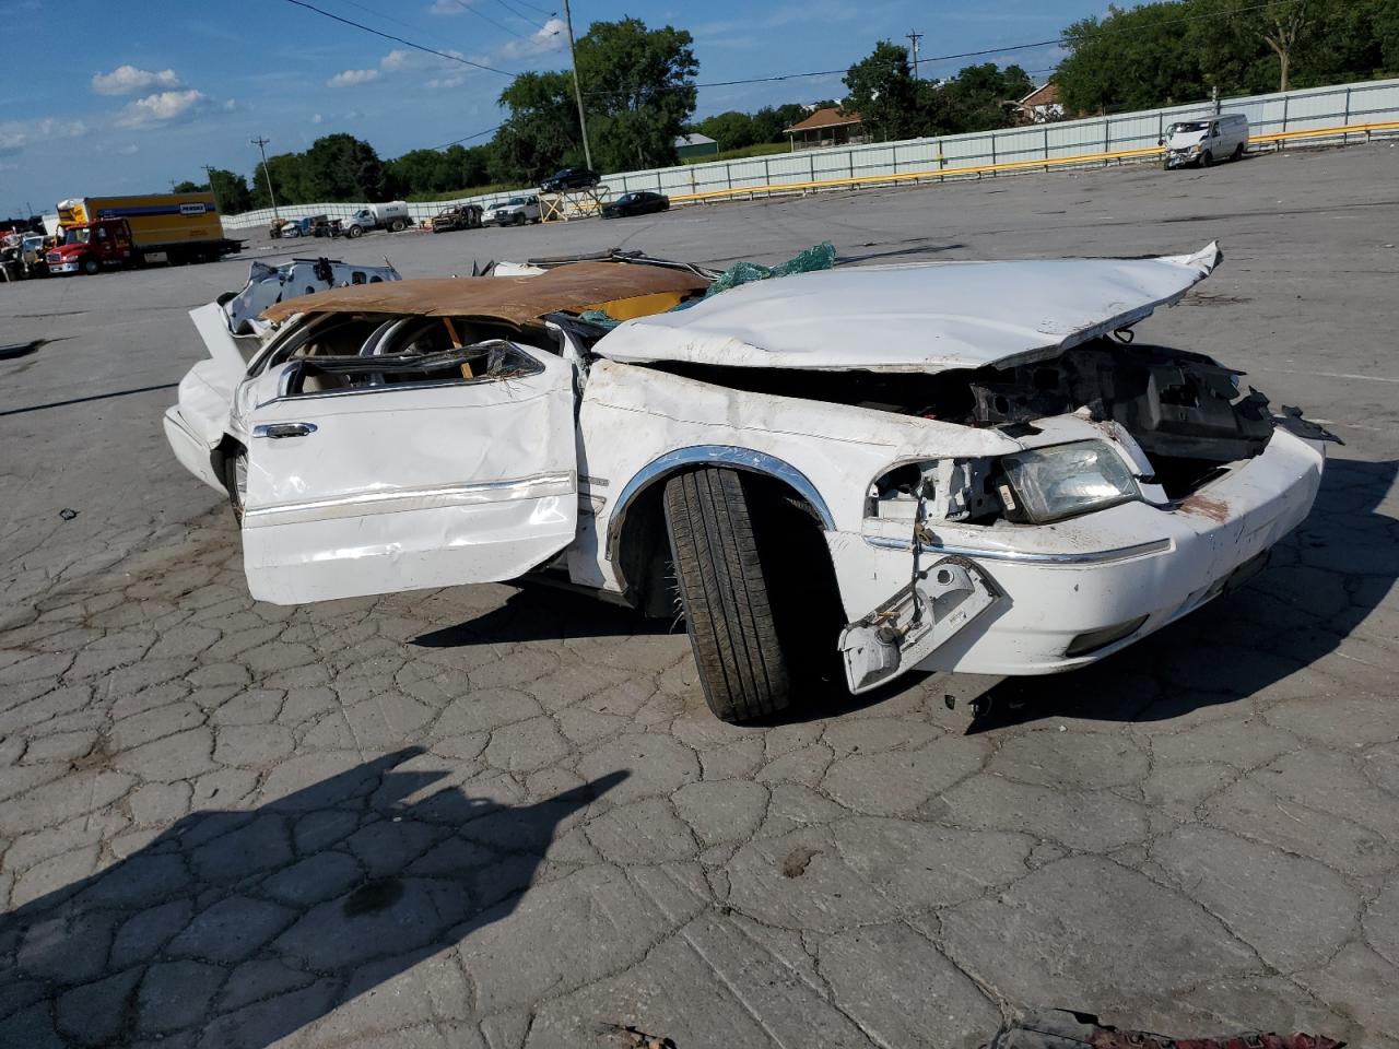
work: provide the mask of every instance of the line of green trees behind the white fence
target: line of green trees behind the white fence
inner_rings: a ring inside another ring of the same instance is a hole
[[[1161,0],[1108,7],[1065,29],[1069,55],[1053,81],[1073,113],[1146,109],[1221,94],[1364,80],[1399,69],[1399,0]],[[730,110],[691,122],[700,70],[693,38],[638,18],[593,22],[578,39],[578,78],[592,166],[634,171],[677,162],[677,136],[700,131],[720,150],[785,141],[811,106]],[[1034,84],[1018,66],[968,66],[946,80],[915,77],[908,49],[880,41],[849,67],[846,95],[817,104],[858,112],[876,141],[985,131],[1016,122],[1013,102]],[[586,161],[572,73],[525,73],[501,92],[505,119],[478,145],[411,150],[381,159],[351,134],[267,158],[248,178],[213,169],[204,183],[236,214],[281,204],[424,197],[537,182]]]

